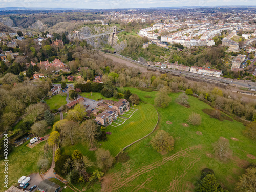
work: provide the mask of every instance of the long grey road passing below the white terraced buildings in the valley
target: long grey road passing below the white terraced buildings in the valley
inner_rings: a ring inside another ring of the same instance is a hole
[[[141,62],[138,62],[138,61],[134,61],[132,59],[126,58],[126,57],[124,57],[122,55],[119,55],[117,53],[115,53],[114,55],[119,56],[123,60],[130,61],[131,63],[136,63],[137,65],[140,65],[140,66],[144,66],[144,67],[152,68],[152,69],[163,70],[163,71],[169,71],[169,72],[172,72],[173,74],[176,74],[176,75],[197,77],[197,78],[200,78],[200,79],[214,80],[214,81],[219,81],[219,82],[222,82],[222,83],[233,84],[235,86],[256,89],[256,83],[251,82],[251,81],[244,81],[243,82],[242,80],[233,80],[233,79],[224,78],[224,77],[203,76],[203,75],[200,75],[200,74],[194,74],[194,73],[190,73],[190,72],[186,72],[186,71],[179,71],[179,70],[174,70],[174,69],[161,69],[161,68],[158,68],[158,67],[155,67],[155,66],[153,67],[153,66],[147,65],[147,63],[141,63]]]

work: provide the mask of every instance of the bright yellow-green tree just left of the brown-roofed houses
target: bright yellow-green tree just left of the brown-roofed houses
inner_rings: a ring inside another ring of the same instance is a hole
[[[67,114],[67,119],[75,122],[80,122],[86,117],[86,110],[82,104],[77,104],[73,110]]]

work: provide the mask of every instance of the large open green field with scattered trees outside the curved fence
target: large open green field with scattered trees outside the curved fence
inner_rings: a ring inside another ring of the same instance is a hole
[[[127,88],[125,88],[127,89]],[[143,95],[154,96],[156,92],[142,92],[135,88],[129,88],[132,93],[136,93],[142,100],[148,103],[154,102],[154,97],[143,98]],[[130,160],[126,164],[116,164],[109,173],[115,172],[112,175],[113,183],[119,191],[132,191],[145,182],[147,191],[166,190],[169,186],[175,186],[172,191],[185,191],[191,187],[187,187],[189,183],[195,184],[200,176],[200,170],[208,167],[214,170],[217,179],[224,184],[230,191],[234,190],[234,183],[238,180],[238,176],[244,172],[244,169],[238,166],[236,159],[243,159],[250,163],[256,163],[256,160],[249,159],[246,154],[256,154],[255,141],[252,141],[241,134],[244,129],[242,123],[224,120],[223,122],[209,118],[202,112],[204,108],[211,108],[197,98],[189,96],[190,108],[184,108],[174,102],[179,94],[171,94],[172,103],[168,108],[158,108],[160,122],[159,129],[163,129],[173,135],[175,142],[174,151],[167,155],[157,153],[148,144],[152,136],[143,139],[139,143],[129,147]],[[202,116],[202,124],[200,126],[183,127],[182,123],[186,123],[189,114],[196,112]],[[172,125],[166,124],[166,121],[173,122]],[[201,131],[203,135],[197,135],[196,131]],[[230,142],[230,147],[233,150],[233,158],[228,163],[222,163],[215,158],[210,158],[207,153],[213,153],[212,143],[217,141],[219,137],[225,137]],[[235,137],[239,141],[233,141],[230,138]],[[186,153],[180,153],[181,150],[186,150],[191,146],[200,146],[196,149],[191,149]],[[176,154],[178,153],[178,154]],[[176,158],[164,162],[164,158],[170,158],[175,155]],[[159,161],[159,162],[157,162]],[[157,162],[154,164],[154,162]],[[150,168],[148,168],[150,167]],[[125,183],[128,179],[129,182]],[[118,184],[122,183],[122,185]],[[118,188],[119,187],[119,188]],[[170,189],[170,188],[169,188]]]

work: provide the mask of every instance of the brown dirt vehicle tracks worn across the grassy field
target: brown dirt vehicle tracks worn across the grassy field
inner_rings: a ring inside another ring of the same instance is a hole
[[[138,179],[140,175],[151,172],[151,170],[161,167],[168,162],[173,164],[180,159],[182,159],[180,166],[184,167],[185,169],[183,170],[183,173],[177,172],[175,174],[175,177],[170,182],[168,190],[177,192],[185,191],[186,181],[184,181],[183,178],[187,174],[188,170],[193,168],[194,164],[200,159],[200,156],[195,153],[195,151],[200,150],[200,148],[200,146],[186,148],[185,150],[181,150],[172,156],[165,157],[162,160],[142,166],[140,169],[133,169],[133,167],[131,167],[130,165],[125,164],[121,172],[108,174],[102,178],[102,191],[122,191],[123,188],[131,186],[131,182]],[[188,164],[185,164],[183,162],[184,158],[189,159]],[[132,162],[130,162],[130,164],[132,164]],[[104,180],[104,178],[106,178],[106,180]],[[144,188],[145,183],[142,183],[140,186]],[[137,188],[138,186],[135,186],[134,190],[136,190]]]

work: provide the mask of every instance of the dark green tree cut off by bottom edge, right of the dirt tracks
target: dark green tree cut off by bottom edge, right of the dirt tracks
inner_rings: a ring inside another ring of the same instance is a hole
[[[195,192],[228,192],[223,190],[220,183],[217,181],[215,176],[212,173],[208,173],[205,177],[200,180],[200,183],[196,185]]]

